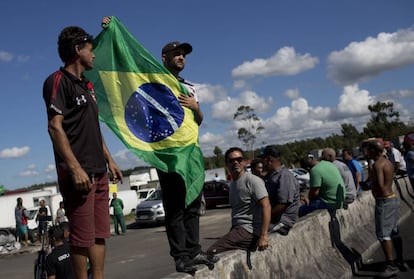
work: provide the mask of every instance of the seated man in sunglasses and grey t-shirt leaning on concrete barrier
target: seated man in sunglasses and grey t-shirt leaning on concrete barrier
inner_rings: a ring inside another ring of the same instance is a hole
[[[269,245],[270,202],[263,179],[246,172],[243,151],[232,147],[224,155],[233,181],[230,186],[232,227],[207,250],[209,257],[229,250],[266,250]]]

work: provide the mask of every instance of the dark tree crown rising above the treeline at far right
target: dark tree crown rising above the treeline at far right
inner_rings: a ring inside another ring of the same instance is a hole
[[[394,111],[394,103],[377,102],[368,106],[371,119],[364,128],[367,137],[380,137],[383,139],[395,139],[406,130],[404,123],[400,121],[400,114]]]

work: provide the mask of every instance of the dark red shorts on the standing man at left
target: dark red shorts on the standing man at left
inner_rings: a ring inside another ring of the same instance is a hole
[[[69,220],[69,242],[77,247],[91,247],[96,238],[111,236],[109,225],[108,174],[95,174],[89,193],[76,191],[71,176],[58,171],[59,189]]]

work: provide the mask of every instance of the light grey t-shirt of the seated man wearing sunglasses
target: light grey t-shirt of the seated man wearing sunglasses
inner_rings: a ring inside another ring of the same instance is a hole
[[[249,172],[230,186],[232,226],[241,226],[257,236],[261,233],[262,208],[259,201],[267,197],[264,181]]]

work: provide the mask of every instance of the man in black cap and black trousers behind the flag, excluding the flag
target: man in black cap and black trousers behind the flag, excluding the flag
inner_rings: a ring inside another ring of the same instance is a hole
[[[179,76],[184,69],[186,55],[193,48],[188,43],[171,42],[162,49],[164,66],[183,84],[189,94],[180,94],[178,100],[184,107],[194,113],[194,121],[200,125],[203,120],[195,88]],[[179,272],[194,272],[193,264],[214,264],[218,257],[207,255],[199,244],[199,208],[201,193],[187,207],[185,206],[186,187],[183,179],[175,172],[158,170],[163,202],[165,209],[165,227],[170,243],[170,254],[175,259],[176,270]]]

